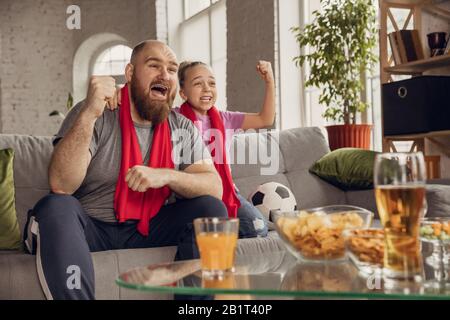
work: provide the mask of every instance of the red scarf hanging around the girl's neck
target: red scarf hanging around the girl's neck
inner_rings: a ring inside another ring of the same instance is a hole
[[[185,102],[180,107],[180,112],[186,118],[191,120],[194,124],[196,123],[197,116],[195,115],[192,106],[188,102]],[[227,161],[225,128],[223,126],[223,121],[220,116],[220,113],[216,107],[212,107],[211,109],[208,110],[208,116],[211,121],[211,128],[217,129],[220,132],[219,139],[215,141],[216,148],[214,150],[211,150],[214,135],[211,135],[209,147],[213,159],[219,159],[219,161],[214,161],[214,166],[216,167],[216,170],[219,173],[220,178],[222,179],[222,186],[223,186],[222,201],[224,202],[225,206],[228,209],[228,217],[236,218],[237,210],[241,206],[241,203],[236,195],[236,191],[234,189],[233,184],[233,178],[231,176],[230,167]],[[218,151],[218,153],[220,154],[219,157],[216,157],[215,154],[216,151]],[[222,159],[223,161],[220,161]]]

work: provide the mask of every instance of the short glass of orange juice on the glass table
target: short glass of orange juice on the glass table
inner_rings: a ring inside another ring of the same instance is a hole
[[[194,228],[203,275],[222,277],[234,271],[239,219],[198,218]]]

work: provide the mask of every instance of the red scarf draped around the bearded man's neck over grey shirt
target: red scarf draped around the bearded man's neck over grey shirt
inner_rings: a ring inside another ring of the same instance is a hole
[[[145,164],[131,118],[128,85],[123,87],[121,94],[122,104],[119,109],[119,121],[122,136],[122,159],[114,195],[114,210],[119,222],[139,220],[137,230],[142,235],[148,236],[150,220],[159,212],[171,191],[169,187],[163,187],[148,189],[142,193],[133,191],[128,187],[125,181],[128,169]],[[167,119],[154,127],[148,166],[169,169],[175,167],[172,160],[171,132]]]

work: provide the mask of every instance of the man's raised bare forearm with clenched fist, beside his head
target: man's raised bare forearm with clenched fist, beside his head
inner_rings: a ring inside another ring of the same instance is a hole
[[[73,194],[80,187],[91,162],[89,145],[95,122],[103,114],[107,100],[114,97],[114,93],[114,78],[91,78],[86,103],[72,127],[53,151],[48,170],[52,192]]]

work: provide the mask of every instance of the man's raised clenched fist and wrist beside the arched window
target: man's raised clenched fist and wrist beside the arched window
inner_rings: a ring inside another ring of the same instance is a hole
[[[106,105],[111,110],[117,108],[117,104],[114,103],[115,95],[116,80],[113,77],[92,76],[84,111],[94,119],[100,118]]]

